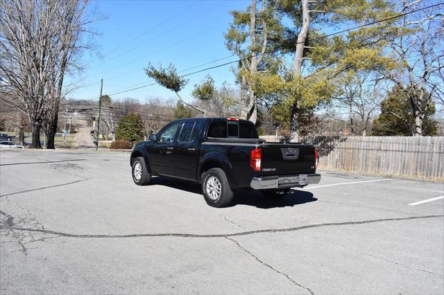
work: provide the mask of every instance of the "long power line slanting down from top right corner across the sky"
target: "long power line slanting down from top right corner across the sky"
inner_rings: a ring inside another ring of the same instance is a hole
[[[366,26],[372,26],[372,25],[374,25],[374,24],[380,24],[380,23],[382,23],[382,22],[384,22],[384,21],[391,21],[391,20],[393,20],[393,19],[398,19],[399,17],[404,17],[404,16],[406,16],[406,15],[410,15],[410,14],[412,14],[412,13],[414,13],[414,12],[419,12],[419,11],[422,11],[422,10],[427,10],[427,9],[429,9],[429,8],[434,8],[434,7],[436,7],[436,6],[441,6],[441,5],[443,5],[443,4],[444,4],[444,3],[441,2],[441,3],[437,3],[437,4],[434,4],[434,5],[431,5],[431,6],[427,6],[427,7],[424,7],[424,8],[418,8],[418,9],[416,9],[416,10],[411,10],[411,11],[409,11],[409,12],[401,13],[401,14],[399,14],[399,15],[394,15],[393,17],[387,17],[387,18],[385,18],[385,19],[379,19],[379,20],[377,20],[377,21],[372,21],[372,22],[367,23],[367,24],[362,24],[362,25],[355,26],[355,27],[352,27],[352,28],[347,28],[347,29],[344,29],[344,30],[340,30],[340,31],[338,31],[338,32],[330,33],[330,34],[327,34],[327,35],[322,35],[322,36],[320,36],[320,37],[315,37],[315,38],[312,39],[312,40],[313,40],[313,41],[316,41],[316,40],[319,40],[319,39],[324,39],[324,38],[327,38],[327,37],[332,37],[332,36],[334,36],[334,35],[339,35],[339,34],[342,34],[342,33],[346,33],[346,32],[349,32],[350,30],[356,30],[356,29],[358,29],[358,28],[364,28],[364,27],[366,27]],[[302,43],[304,43],[304,42],[296,42],[295,45],[297,45],[297,44],[302,44]],[[201,72],[203,72],[203,71],[208,71],[208,70],[211,70],[211,69],[216,69],[216,68],[219,68],[219,67],[221,67],[221,66],[227,66],[228,64],[234,64],[234,63],[237,63],[237,62],[242,62],[242,61],[244,61],[244,60],[248,60],[248,59],[250,59],[251,57],[257,57],[257,56],[262,55],[262,54],[265,55],[265,54],[275,53],[275,52],[281,51],[283,48],[284,48],[284,47],[280,47],[280,48],[273,49],[273,50],[271,50],[271,51],[265,51],[264,53],[257,53],[257,54],[253,54],[253,55],[248,55],[247,57],[243,57],[243,58],[240,58],[240,59],[238,59],[238,60],[234,60],[234,61],[231,61],[231,62],[225,62],[225,63],[223,63],[223,64],[218,64],[218,65],[216,65],[216,66],[210,66],[210,67],[207,67],[207,68],[205,68],[205,69],[200,69],[200,70],[198,70],[198,71],[194,71],[194,72],[191,72],[191,73],[187,73],[187,74],[185,74],[185,75],[180,75],[179,77],[180,77],[180,78],[183,78],[183,77],[187,77],[187,76],[189,76],[189,75],[194,75],[194,74],[196,74],[196,73],[201,73]],[[228,57],[223,57],[223,58],[228,58]],[[213,62],[214,62],[214,61],[213,61]],[[212,63],[212,62],[209,62],[209,63]],[[207,63],[207,64],[209,64],[209,63]],[[185,71],[185,70],[184,70],[184,71]],[[154,82],[154,83],[151,83],[151,84],[146,84],[146,85],[143,85],[143,86],[140,86],[140,87],[131,88],[131,89],[128,89],[128,90],[125,90],[125,91],[117,91],[117,92],[114,92],[114,93],[108,93],[108,95],[109,95],[109,96],[112,96],[112,95],[116,95],[116,94],[126,93],[126,92],[129,92],[129,91],[134,91],[134,90],[137,90],[137,89],[142,89],[142,88],[145,88],[145,87],[153,86],[153,85],[155,85],[155,84],[157,84],[157,82]],[[93,98],[93,99],[96,99],[96,98]]]

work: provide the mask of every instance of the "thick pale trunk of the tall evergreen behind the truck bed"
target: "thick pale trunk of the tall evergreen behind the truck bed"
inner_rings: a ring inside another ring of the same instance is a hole
[[[309,0],[302,0],[302,28],[298,35],[298,40],[296,42],[296,52],[293,62],[293,78],[298,77],[302,74],[302,57],[304,57],[304,46],[305,40],[308,36],[308,30],[310,26],[310,15],[308,10]],[[299,129],[298,126],[298,102],[294,102],[291,107],[291,120],[290,120],[290,137],[296,136],[296,132]]]

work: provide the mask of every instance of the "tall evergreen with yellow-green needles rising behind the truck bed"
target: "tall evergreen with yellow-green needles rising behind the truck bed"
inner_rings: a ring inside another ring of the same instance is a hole
[[[341,90],[335,81],[339,75],[394,66],[382,54],[386,39],[398,34],[393,21],[333,37],[325,37],[321,30],[325,25],[357,26],[392,17],[395,12],[388,1],[269,0],[260,1],[262,9],[255,11],[257,1],[252,0],[246,10],[232,12],[226,45],[245,58],[246,62],[239,62],[237,80],[241,87],[246,80],[247,92],[254,96],[248,100],[250,105],[273,106],[275,122],[289,128],[291,136],[300,133],[307,111]],[[261,58],[256,67],[254,56]]]

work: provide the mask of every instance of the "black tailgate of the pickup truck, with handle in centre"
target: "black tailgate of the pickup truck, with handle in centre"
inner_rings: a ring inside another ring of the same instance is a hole
[[[262,143],[262,171],[260,175],[299,175],[314,173],[313,145],[298,143]]]

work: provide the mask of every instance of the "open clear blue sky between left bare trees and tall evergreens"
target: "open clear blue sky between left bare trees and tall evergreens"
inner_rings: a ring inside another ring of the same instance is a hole
[[[223,38],[232,21],[229,12],[244,9],[249,3],[250,0],[92,2],[90,5],[107,17],[93,26],[94,30],[101,34],[94,37],[101,57],[88,54],[83,57],[85,69],[80,75],[82,80],[78,88],[69,93],[68,98],[98,97],[101,78],[104,94],[117,92],[124,87],[150,84],[152,81],[144,73],[148,62],[161,62],[163,65],[172,62],[176,64],[178,71],[182,71],[230,56]],[[236,59],[234,56],[198,69]],[[230,66],[191,75],[189,84],[181,91],[185,99],[191,100],[190,93],[194,84],[202,80],[207,73],[213,76],[216,85],[223,81],[232,83],[234,80]],[[147,96],[170,98],[174,97],[174,94],[154,85],[111,97],[131,97],[143,102]]]

